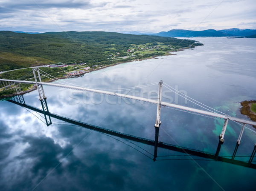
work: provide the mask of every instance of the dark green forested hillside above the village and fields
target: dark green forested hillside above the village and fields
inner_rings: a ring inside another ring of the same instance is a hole
[[[119,57],[127,56],[129,48],[143,45],[164,45],[175,50],[200,44],[193,40],[172,37],[113,32],[68,31],[26,34],[0,31],[0,71],[75,61],[108,65],[113,63],[111,55],[119,53]],[[160,55],[160,52],[154,54]]]

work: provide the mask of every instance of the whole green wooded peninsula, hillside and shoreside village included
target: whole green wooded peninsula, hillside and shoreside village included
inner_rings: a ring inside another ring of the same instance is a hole
[[[0,78],[33,80],[35,66],[56,78],[79,77],[119,63],[170,55],[202,45],[195,40],[113,32],[0,31]],[[49,81],[47,77],[42,80]],[[27,92],[35,87],[21,85],[21,89]],[[14,89],[0,86],[0,96],[12,93]]]

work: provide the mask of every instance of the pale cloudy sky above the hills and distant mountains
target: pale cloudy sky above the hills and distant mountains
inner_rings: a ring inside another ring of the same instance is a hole
[[[0,30],[256,29],[255,0],[0,0]]]

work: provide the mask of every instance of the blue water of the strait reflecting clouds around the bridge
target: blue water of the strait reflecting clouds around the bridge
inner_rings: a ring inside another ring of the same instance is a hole
[[[172,56],[120,64],[58,81],[91,88],[127,88],[163,80],[230,116],[256,100],[256,39],[194,38],[205,46]],[[158,85],[121,93],[156,97]],[[154,140],[156,105],[44,86],[49,111],[84,123]],[[163,100],[189,107],[163,87]],[[41,108],[38,92],[24,95]],[[161,109],[159,141],[215,154],[224,120]],[[0,190],[254,191],[256,170],[91,131],[13,103],[0,102]],[[241,125],[229,122],[219,156],[231,158]],[[256,131],[244,130],[236,160],[248,161]],[[256,163],[256,158],[254,162]]]

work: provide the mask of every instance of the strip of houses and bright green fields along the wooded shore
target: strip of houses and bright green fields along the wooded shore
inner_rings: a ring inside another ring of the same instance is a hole
[[[183,49],[186,48],[191,48],[191,46],[188,47],[183,47],[183,48],[178,48],[175,49],[175,51],[182,51]],[[132,46],[129,47],[128,49],[126,49],[123,52],[119,52],[116,51],[114,54],[109,55],[109,60],[114,61],[112,64],[107,64],[107,65],[103,65],[100,63],[94,63],[94,65],[92,63],[86,63],[84,61],[78,61],[75,60],[73,62],[70,63],[56,63],[56,64],[45,64],[45,65],[41,65],[41,66],[33,66],[33,67],[29,67],[29,68],[52,68],[53,73],[55,73],[56,76],[58,76],[57,78],[75,78],[75,77],[81,77],[84,76],[84,74],[89,73],[90,71],[96,71],[96,70],[100,70],[102,68],[106,68],[109,66],[115,66],[116,64],[119,63],[124,63],[124,62],[133,62],[133,61],[138,61],[138,60],[143,60],[143,59],[148,59],[148,58],[154,58],[156,56],[159,55],[171,55],[172,52],[174,52],[174,48],[173,46],[170,45],[163,45],[158,43],[157,46],[149,46],[149,44],[140,44],[137,46]],[[24,69],[29,69],[29,68],[20,68],[21,70]],[[57,69],[59,68],[59,69]],[[61,69],[63,68],[63,69]],[[55,70],[57,69],[57,70]],[[19,70],[19,69],[15,69],[15,70]],[[13,70],[13,71],[15,71]],[[12,71],[12,70],[11,70]],[[9,73],[9,71],[7,71]],[[6,72],[6,73],[7,73]],[[48,70],[48,72],[51,73],[51,71]],[[3,72],[0,72],[3,73]],[[59,75],[58,75],[59,73]],[[14,74],[14,76],[17,76],[18,74]],[[33,79],[33,77],[28,78],[28,80]],[[51,82],[51,80],[48,80],[49,82]],[[8,90],[9,88],[0,88],[0,90]],[[22,91],[25,92],[29,92],[32,91],[32,87],[23,87]],[[7,93],[3,93],[2,94],[7,94]]]

